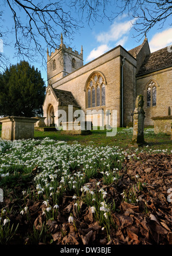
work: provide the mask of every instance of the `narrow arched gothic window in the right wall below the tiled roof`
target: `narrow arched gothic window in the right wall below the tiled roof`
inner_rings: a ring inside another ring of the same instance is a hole
[[[157,86],[156,83],[151,81],[147,87],[147,106],[157,105]]]

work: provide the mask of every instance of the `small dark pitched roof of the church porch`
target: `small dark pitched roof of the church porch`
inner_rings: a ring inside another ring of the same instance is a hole
[[[77,104],[77,101],[73,97],[73,94],[71,91],[64,91],[64,90],[59,90],[59,89],[54,89],[54,93],[56,94],[56,97],[59,98],[59,101],[61,102],[62,106],[68,106],[68,105],[73,105],[76,106],[77,108],[80,108],[79,104]]]

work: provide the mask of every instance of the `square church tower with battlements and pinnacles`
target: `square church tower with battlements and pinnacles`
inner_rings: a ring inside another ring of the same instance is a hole
[[[66,47],[63,43],[63,37],[61,33],[61,44],[59,48],[55,49],[49,55],[47,49],[47,80],[51,81],[52,85],[59,79],[65,77],[71,72],[77,70],[83,66],[83,47],[81,52],[73,51],[71,47]]]

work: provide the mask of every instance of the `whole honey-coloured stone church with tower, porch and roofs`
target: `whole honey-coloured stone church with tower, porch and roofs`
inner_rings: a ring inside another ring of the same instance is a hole
[[[43,110],[48,126],[59,125],[59,110],[65,110],[69,121],[70,105],[72,114],[83,110],[85,120],[96,114],[100,126],[107,110],[116,110],[117,126],[126,127],[140,94],[145,125],[153,125],[151,117],[166,116],[172,108],[172,52],[166,47],[151,53],[146,37],[130,51],[118,45],[84,65],[83,47],[80,53],[67,48],[61,35],[60,47],[47,51],[47,78]]]

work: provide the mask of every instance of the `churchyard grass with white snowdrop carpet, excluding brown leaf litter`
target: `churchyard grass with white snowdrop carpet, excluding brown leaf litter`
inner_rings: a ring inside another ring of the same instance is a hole
[[[0,139],[0,188],[3,188],[3,197],[11,198],[13,202],[17,200],[18,208],[15,206],[11,212],[14,215],[14,211],[18,211],[17,214],[32,223],[27,206],[29,198],[42,200],[42,215],[48,221],[57,219],[58,205],[61,205],[64,194],[68,194],[73,200],[75,217],[79,217],[81,205],[87,204],[110,240],[110,226],[115,227],[111,213],[116,211],[116,206],[113,198],[107,198],[105,188],[111,184],[118,185],[124,159],[139,161],[138,152],[145,151],[150,154],[171,153],[170,136],[154,135],[153,128],[146,128],[144,135],[147,144],[139,149],[128,147],[132,128],[119,128],[114,137],[107,137],[105,131],[100,130],[92,131],[92,135],[87,136],[35,131],[33,140],[11,142]],[[89,179],[100,179],[100,182],[92,187]],[[142,190],[142,184],[139,184],[138,177],[136,179],[139,190]],[[133,189],[128,194],[123,191],[122,196],[124,201],[136,203],[138,200]],[[7,243],[6,234],[13,238],[11,233],[17,231],[18,224],[10,226],[10,221],[5,221],[10,215],[3,210],[0,213],[0,229],[3,243]],[[40,240],[45,243],[50,237],[48,233],[46,238],[46,230],[45,224],[41,233],[33,228],[33,232],[28,233],[30,243]]]

